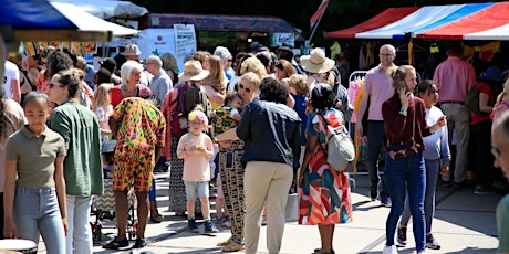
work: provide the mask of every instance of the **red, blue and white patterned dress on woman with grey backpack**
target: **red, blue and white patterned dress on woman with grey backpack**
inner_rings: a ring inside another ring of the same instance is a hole
[[[352,202],[350,197],[349,177],[337,172],[326,163],[325,125],[314,113],[308,126],[309,136],[318,136],[319,144],[310,160],[299,199],[299,224],[340,224],[352,221]],[[330,109],[323,114],[326,121],[339,127],[342,123],[341,113]]]

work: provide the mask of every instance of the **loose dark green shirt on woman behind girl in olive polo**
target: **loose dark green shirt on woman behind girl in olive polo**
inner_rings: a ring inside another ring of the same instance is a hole
[[[95,114],[67,100],[53,109],[50,127],[64,138],[69,148],[64,160],[67,194],[103,194],[101,131]]]

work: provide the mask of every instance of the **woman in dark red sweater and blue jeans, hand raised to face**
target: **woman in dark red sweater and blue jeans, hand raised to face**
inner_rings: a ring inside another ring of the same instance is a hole
[[[423,137],[445,126],[445,116],[435,125],[427,126],[426,108],[422,98],[412,92],[417,85],[415,68],[403,65],[391,74],[394,95],[382,105],[384,127],[387,137],[384,177],[393,205],[387,216],[384,254],[396,254],[394,233],[405,207],[405,192],[414,221],[414,237],[417,254],[425,253],[424,193],[426,173],[423,158]],[[406,188],[405,188],[406,187]],[[406,189],[406,190],[405,190]]]

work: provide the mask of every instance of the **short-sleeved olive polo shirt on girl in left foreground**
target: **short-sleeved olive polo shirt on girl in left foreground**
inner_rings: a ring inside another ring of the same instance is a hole
[[[54,187],[55,159],[63,156],[65,156],[63,138],[48,127],[37,136],[24,126],[7,141],[6,159],[18,162],[17,187],[33,189]]]

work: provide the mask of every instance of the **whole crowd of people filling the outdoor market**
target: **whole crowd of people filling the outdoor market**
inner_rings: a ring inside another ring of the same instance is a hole
[[[38,242],[40,233],[49,253],[92,253],[92,201],[112,178],[117,235],[103,247],[129,244],[129,190],[137,199],[133,247],[144,247],[147,221],[163,221],[154,170],[169,162],[169,211],[187,220],[189,232],[200,232],[198,218],[206,233],[219,232],[217,224],[230,227],[231,236],[218,243],[224,252],[257,253],[264,220],[268,251],[279,253],[288,193],[297,192],[299,224],[320,232],[313,252],[335,253],[335,224],[351,222],[353,210],[347,172],[326,161],[336,156],[328,155],[326,137],[343,126],[367,140],[368,195],[391,208],[384,254],[397,253],[395,239],[406,245],[409,218],[417,253],[440,248],[432,232],[438,180],[467,188],[471,170],[476,194],[507,188],[496,169],[507,173],[507,142],[496,136],[509,135],[509,82],[496,57],[476,77],[461,47],[451,45],[434,78],[418,81],[413,66],[394,64],[396,50],[385,44],[362,97],[350,102],[345,54],[334,61],[319,47],[297,62],[287,46],[270,52],[253,43],[235,56],[217,46],[187,55],[180,73],[172,54],[141,60],[141,53],[129,44],[95,72],[83,57],[52,47],[30,56],[28,70],[20,70],[19,57],[6,61],[3,237]],[[470,89],[478,92],[479,113],[466,105]],[[499,210],[499,221],[507,220],[507,210]],[[509,251],[502,241],[500,247]]]

